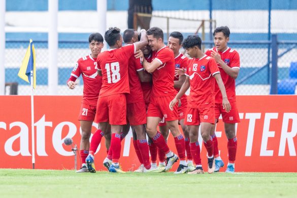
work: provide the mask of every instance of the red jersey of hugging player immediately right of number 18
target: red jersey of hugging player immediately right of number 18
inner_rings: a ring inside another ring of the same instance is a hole
[[[144,102],[143,91],[137,73],[141,70],[143,70],[143,67],[140,62],[140,58],[131,56],[128,63],[130,93],[126,94],[127,104]]]

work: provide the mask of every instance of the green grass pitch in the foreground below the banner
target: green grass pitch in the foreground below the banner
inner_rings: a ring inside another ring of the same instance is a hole
[[[0,197],[296,197],[297,173],[77,174],[0,169]]]

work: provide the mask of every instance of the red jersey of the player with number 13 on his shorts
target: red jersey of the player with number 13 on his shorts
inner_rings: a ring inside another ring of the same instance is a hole
[[[187,62],[186,75],[190,78],[188,107],[214,107],[215,74],[220,73],[216,61],[207,55],[192,58]]]

